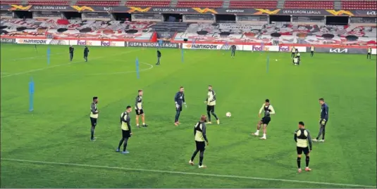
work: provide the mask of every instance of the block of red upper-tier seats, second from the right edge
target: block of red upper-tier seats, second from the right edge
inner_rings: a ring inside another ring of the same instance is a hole
[[[284,8],[334,9],[334,1],[285,1]]]

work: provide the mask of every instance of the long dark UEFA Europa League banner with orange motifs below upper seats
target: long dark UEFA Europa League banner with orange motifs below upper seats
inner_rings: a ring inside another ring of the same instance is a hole
[[[45,5],[1,5],[3,11],[78,11],[78,12],[122,12],[122,13],[189,13],[189,14],[248,14],[248,15],[348,15],[375,17],[376,10],[324,10],[324,9],[266,9],[266,8],[174,8],[136,6],[45,6]]]

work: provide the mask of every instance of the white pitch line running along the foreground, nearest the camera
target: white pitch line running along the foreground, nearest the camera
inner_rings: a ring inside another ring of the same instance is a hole
[[[324,182],[315,182],[315,181],[298,181],[298,180],[288,180],[280,178],[260,178],[260,177],[251,177],[251,176],[233,176],[233,175],[222,175],[222,174],[199,174],[199,173],[190,173],[182,171],[164,171],[164,170],[153,170],[153,169],[134,169],[127,167],[109,167],[102,165],[92,165],[92,164],[73,164],[73,163],[61,163],[61,162],[44,162],[44,161],[35,161],[27,159],[11,159],[11,158],[1,158],[1,160],[13,161],[13,162],[29,162],[37,164],[54,164],[54,165],[64,165],[72,167],[89,167],[89,168],[99,168],[99,169],[118,169],[118,170],[127,170],[127,171],[144,171],[144,172],[154,172],[161,174],[181,174],[181,175],[194,175],[194,176],[212,176],[219,178],[242,178],[249,180],[259,180],[259,181],[280,181],[285,183],[310,183],[316,185],[339,185],[339,186],[350,186],[350,187],[359,187],[359,188],[376,188],[376,185],[358,185],[358,184],[345,184],[345,183],[324,183]]]

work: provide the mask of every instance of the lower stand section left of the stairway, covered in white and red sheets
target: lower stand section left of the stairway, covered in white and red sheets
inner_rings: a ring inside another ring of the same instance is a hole
[[[125,22],[64,19],[6,19],[1,18],[2,36],[54,37],[96,39],[150,39],[156,22]]]

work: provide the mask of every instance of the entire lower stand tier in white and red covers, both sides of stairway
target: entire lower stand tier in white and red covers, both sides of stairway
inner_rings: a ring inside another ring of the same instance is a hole
[[[312,23],[240,24],[187,22],[125,22],[99,20],[7,19],[2,18],[2,36],[142,39],[149,40],[154,31],[176,32],[175,40],[230,41],[280,44],[374,44],[377,27],[368,24],[346,26]]]

